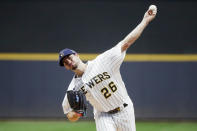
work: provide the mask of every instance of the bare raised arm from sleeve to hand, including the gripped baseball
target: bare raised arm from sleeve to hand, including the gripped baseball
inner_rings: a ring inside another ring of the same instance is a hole
[[[151,22],[157,14],[157,7],[155,5],[149,6],[149,9],[144,14],[144,18],[140,24],[132,30],[122,41],[121,51],[127,50],[142,34],[146,26]]]

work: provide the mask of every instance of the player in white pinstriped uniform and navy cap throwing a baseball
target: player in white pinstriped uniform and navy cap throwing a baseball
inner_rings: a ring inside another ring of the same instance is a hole
[[[59,53],[59,65],[74,72],[62,103],[64,114],[70,121],[77,121],[85,114],[86,108],[81,107],[84,103],[80,97],[80,92],[83,92],[94,108],[97,131],[136,130],[133,103],[121,78],[120,66],[126,50],[139,38],[156,14],[156,6],[151,5],[132,32],[87,63],[83,63],[71,49]]]

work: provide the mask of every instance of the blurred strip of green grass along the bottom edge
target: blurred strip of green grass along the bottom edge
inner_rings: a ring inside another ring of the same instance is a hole
[[[136,122],[137,131],[197,131],[197,122]],[[96,131],[93,121],[0,121],[0,131]]]

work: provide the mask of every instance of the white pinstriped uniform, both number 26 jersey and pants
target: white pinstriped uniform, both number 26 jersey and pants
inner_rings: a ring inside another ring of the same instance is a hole
[[[122,43],[87,62],[82,77],[73,77],[68,90],[82,90],[93,106],[97,131],[135,131],[133,103],[120,74],[126,51]],[[72,111],[67,95],[64,113]]]

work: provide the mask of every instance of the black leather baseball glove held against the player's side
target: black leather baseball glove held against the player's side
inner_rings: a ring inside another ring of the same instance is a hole
[[[67,91],[67,98],[73,111],[82,114],[82,116],[86,115],[86,100],[84,94],[81,91]]]

